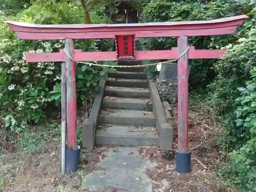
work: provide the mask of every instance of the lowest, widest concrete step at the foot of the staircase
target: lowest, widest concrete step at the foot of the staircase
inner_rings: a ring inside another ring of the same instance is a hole
[[[154,126],[99,125],[95,133],[96,145],[158,146],[159,135]]]

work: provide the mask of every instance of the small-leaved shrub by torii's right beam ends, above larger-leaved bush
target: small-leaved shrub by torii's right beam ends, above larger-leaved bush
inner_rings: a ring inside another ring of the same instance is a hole
[[[223,115],[236,108],[237,103],[234,100],[240,95],[237,88],[250,79],[250,71],[256,65],[255,16],[246,25],[246,32],[241,38],[235,44],[226,46],[228,54],[216,63],[218,76],[209,86],[213,93],[212,105]]]

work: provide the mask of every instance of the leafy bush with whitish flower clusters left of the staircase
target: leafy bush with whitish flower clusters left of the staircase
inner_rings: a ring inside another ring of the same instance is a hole
[[[97,7],[103,10],[104,7]],[[18,13],[13,20],[40,24],[73,24],[84,23],[83,9],[75,3],[54,3],[37,1],[27,10]],[[106,23],[108,17],[104,14],[97,16],[92,11],[94,23]],[[16,123],[6,125],[14,132],[21,131],[26,124],[38,124],[45,121],[60,104],[60,62],[26,63],[26,53],[58,52],[63,48],[62,40],[20,40],[9,30],[6,24],[0,25],[0,106],[8,109]],[[105,40],[76,40],[76,49],[83,51],[107,50],[110,41]],[[108,68],[78,65],[77,102],[86,103],[88,98],[97,90],[99,80],[105,78]],[[91,91],[94,90],[94,91]],[[53,103],[55,100],[55,104]],[[10,118],[9,118],[10,119]],[[15,126],[15,127],[14,127]]]

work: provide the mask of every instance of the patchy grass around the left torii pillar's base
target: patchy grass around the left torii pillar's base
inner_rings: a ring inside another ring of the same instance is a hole
[[[1,111],[0,114],[3,117],[5,111]],[[81,123],[82,114],[79,113],[78,143],[81,141]],[[4,127],[1,118],[0,127]],[[86,155],[81,155],[83,163],[80,164],[77,173],[61,175],[59,120],[51,120],[40,126],[29,126],[19,134],[10,134],[0,129],[1,132],[5,133],[0,134],[1,192],[82,191],[81,178],[88,164],[84,160]]]

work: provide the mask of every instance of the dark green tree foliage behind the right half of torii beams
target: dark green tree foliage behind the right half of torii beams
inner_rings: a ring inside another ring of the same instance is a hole
[[[241,15],[252,10],[251,1],[151,1],[143,9],[143,22],[175,22],[183,20],[209,20],[222,17]],[[189,37],[189,45],[196,49],[218,49],[234,42],[237,36],[204,36]],[[144,39],[147,50],[169,50],[177,47],[177,38]],[[193,59],[189,60],[192,67],[189,75],[189,85],[193,88],[205,87],[214,77],[212,70],[217,60]]]

